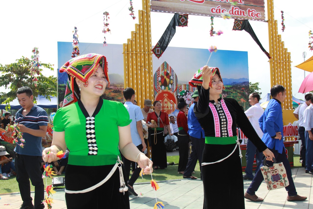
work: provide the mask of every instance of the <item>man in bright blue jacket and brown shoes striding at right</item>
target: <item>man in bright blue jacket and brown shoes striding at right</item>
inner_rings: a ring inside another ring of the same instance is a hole
[[[264,133],[262,141],[269,150],[273,152],[277,162],[282,162],[285,166],[289,180],[289,185],[285,187],[288,192],[287,201],[303,201],[306,197],[297,195],[295,184],[292,180],[290,164],[286,157],[285,146],[282,140],[284,136],[281,103],[285,101],[286,90],[282,85],[275,85],[271,88],[271,95],[273,99],[269,101],[264,114],[259,119],[260,128]],[[263,163],[260,167],[262,166]],[[259,169],[254,175],[247,192],[244,194],[244,198],[255,202],[263,201],[263,198],[255,195],[255,192],[259,189],[263,180],[261,169]]]

